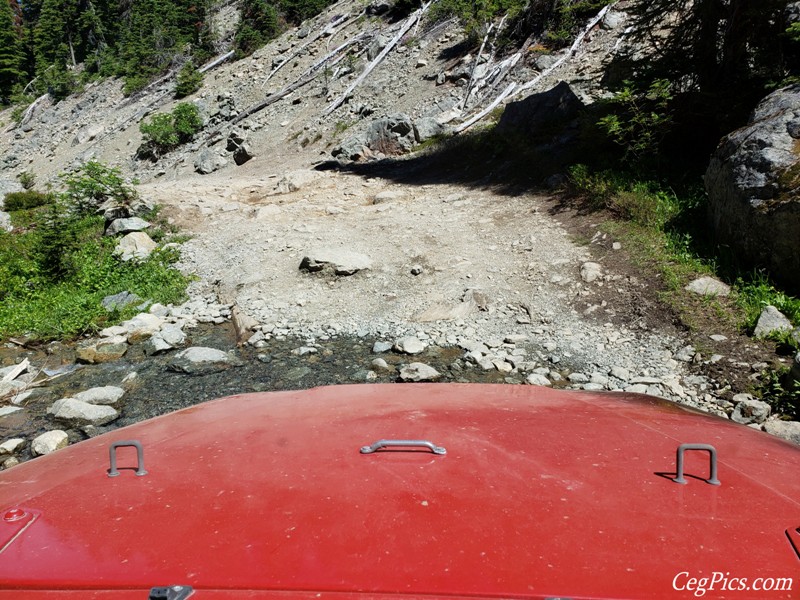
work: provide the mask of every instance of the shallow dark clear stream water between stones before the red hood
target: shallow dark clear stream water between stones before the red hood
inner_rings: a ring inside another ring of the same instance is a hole
[[[408,356],[394,352],[374,354],[375,340],[357,337],[337,337],[315,344],[315,354],[298,355],[294,350],[307,346],[305,340],[287,338],[271,340],[261,349],[236,348],[233,328],[229,323],[200,327],[190,332],[192,346],[209,346],[220,350],[235,349],[243,365],[218,373],[186,375],[167,370],[174,355],[145,356],[142,346],[131,346],[120,360],[99,365],[75,365],[74,351],[67,345],[24,350],[5,347],[0,350],[3,366],[28,357],[33,367],[48,372],[65,371],[42,387],[32,388],[32,394],[19,405],[23,410],[0,417],[0,442],[21,437],[27,441],[51,429],[63,429],[70,443],[99,435],[143,419],[213,400],[247,392],[311,388],[343,383],[389,383],[399,381],[399,368],[411,362],[424,362],[442,375],[441,381],[522,383],[520,374],[504,375],[468,367],[460,357],[459,348],[431,346],[422,354]],[[383,358],[389,369],[371,365]],[[132,374],[135,373],[135,376]],[[42,374],[38,379],[42,379]],[[126,380],[124,383],[123,381]],[[102,427],[86,430],[69,429],[47,414],[56,400],[72,396],[92,387],[115,385],[126,390],[115,406],[121,416]],[[31,458],[29,448],[18,454],[20,460]]]

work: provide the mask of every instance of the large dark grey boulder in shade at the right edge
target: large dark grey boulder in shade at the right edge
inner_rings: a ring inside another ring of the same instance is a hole
[[[800,292],[800,84],[767,96],[720,142],[705,186],[717,242]]]

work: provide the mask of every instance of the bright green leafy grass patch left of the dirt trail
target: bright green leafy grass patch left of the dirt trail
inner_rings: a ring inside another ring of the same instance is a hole
[[[177,251],[156,250],[139,262],[114,256],[116,239],[104,236],[104,218],[74,198],[92,187],[88,178],[82,171],[53,202],[11,212],[15,229],[0,232],[0,339],[97,331],[137,312],[103,308],[103,298],[123,291],[163,304],[185,299],[189,278],[174,267]],[[166,235],[152,231],[157,239]]]

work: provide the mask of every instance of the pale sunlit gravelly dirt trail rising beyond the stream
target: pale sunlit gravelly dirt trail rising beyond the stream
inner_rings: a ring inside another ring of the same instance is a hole
[[[640,282],[602,265],[585,281],[589,249],[548,214],[548,198],[336,171],[263,172],[256,159],[235,176],[141,187],[193,235],[182,250],[183,267],[200,276],[193,295],[232,292],[269,330],[309,338],[415,333],[455,344],[520,335],[543,359],[571,368],[679,376],[675,332],[643,328],[632,310]],[[372,266],[351,276],[301,271],[319,248],[363,254]]]

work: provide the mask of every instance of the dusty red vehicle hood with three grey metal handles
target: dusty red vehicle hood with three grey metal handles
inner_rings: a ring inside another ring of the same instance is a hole
[[[386,438],[447,453],[359,452]],[[109,445],[129,439],[148,474],[108,477]],[[705,453],[687,454],[686,485],[671,480],[684,442],[716,447],[721,485],[703,481]],[[673,589],[683,572],[797,577],[798,466],[793,445],[631,394],[403,384],[233,396],[1,473],[0,519],[27,517],[0,520],[0,598],[132,600],[166,584],[198,600],[685,598]],[[768,596],[800,597],[793,584]]]

